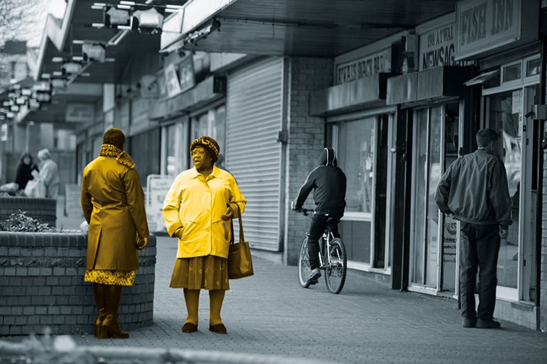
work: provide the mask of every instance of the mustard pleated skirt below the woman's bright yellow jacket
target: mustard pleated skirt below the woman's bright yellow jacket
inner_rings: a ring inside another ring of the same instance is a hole
[[[178,258],[171,276],[171,288],[188,290],[229,290],[228,260],[215,255]]]

